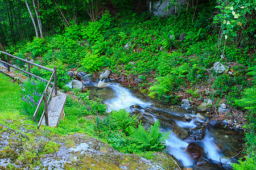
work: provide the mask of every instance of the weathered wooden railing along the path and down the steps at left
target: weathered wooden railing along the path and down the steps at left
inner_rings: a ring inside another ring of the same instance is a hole
[[[55,95],[57,95],[57,67],[54,67],[54,69],[52,70],[52,69],[49,69],[49,68],[47,68],[47,67],[38,65],[38,64],[36,64],[36,63],[34,63],[34,62],[31,62],[29,58],[27,58],[27,59],[22,59],[22,58],[13,56],[13,55],[9,54],[9,51],[6,51],[6,52],[0,51],[0,53],[2,53],[2,54],[4,54],[4,55],[7,56],[7,62],[2,61],[2,60],[0,59],[0,62],[2,62],[2,63],[4,63],[5,65],[7,65],[7,71],[10,71],[10,67],[13,67],[13,68],[16,69],[16,70],[19,70],[19,71],[22,71],[23,73],[28,74],[30,79],[31,79],[31,76],[34,76],[35,78],[38,78],[38,79],[41,79],[41,80],[44,80],[44,81],[48,82],[48,83],[47,83],[47,86],[46,86],[46,88],[45,88],[45,90],[44,90],[44,92],[43,92],[43,95],[42,95],[42,97],[41,97],[41,99],[40,99],[40,101],[39,101],[38,107],[36,107],[35,113],[34,113],[34,115],[33,115],[33,119],[35,120],[36,115],[38,114],[39,108],[40,108],[40,106],[42,105],[42,103],[43,103],[43,101],[44,101],[44,111],[43,111],[43,114],[42,114],[42,116],[41,116],[41,118],[40,118],[40,121],[39,121],[39,124],[38,124],[38,129],[39,129],[39,127],[40,127],[40,125],[41,125],[42,120],[43,120],[44,117],[45,117],[45,120],[46,120],[46,125],[49,126],[48,105],[49,105],[49,101],[51,100],[51,96],[52,96],[53,90],[55,90]],[[19,59],[20,61],[23,61],[23,62],[25,62],[25,63],[28,63],[28,71],[22,70],[22,69],[20,69],[19,67],[16,67],[16,66],[14,66],[14,65],[11,65],[11,63],[10,63],[10,57],[13,57],[13,58]],[[41,68],[41,69],[44,69],[44,70],[47,70],[47,71],[52,72],[51,78],[50,78],[49,80],[46,80],[46,79],[44,79],[44,78],[41,78],[40,76],[37,76],[37,75],[32,74],[31,71],[30,71],[31,65],[34,65],[34,66],[39,67],[39,68]],[[52,79],[53,79],[53,77],[54,77],[54,83],[51,82]],[[48,97],[48,99],[47,99],[47,91],[48,91],[48,88],[49,88],[49,85],[50,85],[50,84],[52,85],[52,90],[51,90],[51,92],[50,92],[50,94],[49,94],[49,97]]]

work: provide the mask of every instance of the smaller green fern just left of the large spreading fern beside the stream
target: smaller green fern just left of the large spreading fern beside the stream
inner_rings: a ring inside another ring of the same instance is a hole
[[[138,123],[138,116],[135,114],[130,116],[129,112],[126,112],[125,109],[120,111],[113,111],[110,113],[110,116],[113,118],[115,124],[118,126],[119,129],[122,129],[125,134],[130,133],[130,126],[134,127]]]

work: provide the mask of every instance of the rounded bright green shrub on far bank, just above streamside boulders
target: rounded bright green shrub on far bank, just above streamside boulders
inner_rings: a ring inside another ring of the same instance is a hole
[[[85,69],[85,71],[92,73],[93,71],[100,70],[103,66],[103,62],[98,54],[88,52],[85,57],[81,59],[80,65]]]

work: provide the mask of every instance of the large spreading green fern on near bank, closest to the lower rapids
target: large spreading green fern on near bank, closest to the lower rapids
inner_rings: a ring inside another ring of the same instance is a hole
[[[138,126],[138,129],[131,127],[131,131],[133,132],[130,136],[131,142],[137,145],[136,148],[142,151],[160,151],[164,146],[164,141],[171,134],[171,131],[168,133],[160,133],[160,122],[159,120],[155,122],[155,124],[150,127],[150,131],[146,131],[142,125]]]

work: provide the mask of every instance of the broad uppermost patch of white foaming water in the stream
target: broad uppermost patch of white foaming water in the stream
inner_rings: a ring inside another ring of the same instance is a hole
[[[109,105],[109,112],[125,109],[134,104],[138,104],[142,108],[149,107],[151,105],[150,103],[144,103],[142,100],[134,97],[127,88],[123,88],[119,86],[119,84],[110,84],[108,87],[112,88],[115,92],[114,99],[105,101],[105,103]]]

